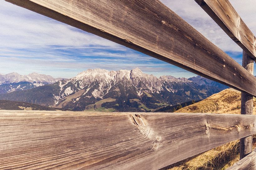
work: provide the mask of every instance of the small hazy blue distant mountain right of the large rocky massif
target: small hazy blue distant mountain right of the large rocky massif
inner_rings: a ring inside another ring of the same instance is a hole
[[[206,79],[200,75],[197,75],[196,77],[191,77],[188,80],[193,81],[194,83],[198,84],[198,85],[210,85],[210,86],[215,86],[221,89],[227,89],[229,88],[226,85],[222,85],[221,83],[218,83],[216,81],[210,80],[210,79]]]

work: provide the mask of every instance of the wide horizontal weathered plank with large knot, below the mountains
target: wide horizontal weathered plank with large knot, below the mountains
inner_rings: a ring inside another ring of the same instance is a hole
[[[156,170],[256,133],[255,115],[0,111],[0,169]]]

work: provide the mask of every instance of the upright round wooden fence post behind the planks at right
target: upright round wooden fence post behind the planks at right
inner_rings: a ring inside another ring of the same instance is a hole
[[[243,51],[243,67],[253,74],[253,59]],[[253,87],[252,87],[253,88]],[[241,114],[253,114],[253,96],[241,94]],[[240,159],[252,152],[252,136],[240,139]]]

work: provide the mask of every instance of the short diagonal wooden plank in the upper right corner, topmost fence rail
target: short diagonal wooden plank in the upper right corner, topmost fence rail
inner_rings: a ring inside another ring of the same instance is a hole
[[[195,0],[246,53],[256,60],[256,38],[228,0]]]

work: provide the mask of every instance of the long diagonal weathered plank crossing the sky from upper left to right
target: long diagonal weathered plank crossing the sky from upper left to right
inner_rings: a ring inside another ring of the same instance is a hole
[[[256,78],[158,0],[7,0],[256,96]]]

